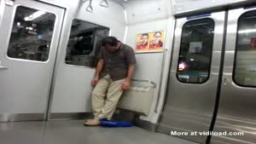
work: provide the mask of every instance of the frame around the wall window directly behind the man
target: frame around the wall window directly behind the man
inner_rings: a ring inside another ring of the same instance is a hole
[[[87,22],[87,23],[90,23],[90,24],[93,24],[93,25],[102,26],[102,25],[96,24],[94,22],[91,22],[91,21],[88,21],[88,20],[82,20],[82,19],[79,19],[79,18],[73,18],[73,20],[80,20],[80,21]],[[79,66],[79,65],[71,65],[71,64],[67,64],[66,63],[67,46],[68,46],[68,41],[69,41],[69,37],[70,37],[71,31],[72,31],[73,20],[71,22],[70,29],[69,29],[69,32],[68,32],[68,40],[67,40],[67,44],[66,44],[65,55],[64,55],[64,60],[62,60],[62,62],[64,63],[65,66],[96,69],[96,66],[95,67],[92,67],[92,66]],[[108,28],[108,36],[111,36],[111,28],[108,27],[108,26],[103,26],[103,27]]]

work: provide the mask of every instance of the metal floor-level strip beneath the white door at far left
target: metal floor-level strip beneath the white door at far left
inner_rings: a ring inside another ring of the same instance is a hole
[[[42,121],[44,113],[1,113],[0,122]]]

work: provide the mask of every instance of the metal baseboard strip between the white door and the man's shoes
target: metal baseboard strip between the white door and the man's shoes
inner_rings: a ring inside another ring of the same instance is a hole
[[[49,114],[49,121],[85,118],[93,118],[93,114],[91,112],[52,112]]]

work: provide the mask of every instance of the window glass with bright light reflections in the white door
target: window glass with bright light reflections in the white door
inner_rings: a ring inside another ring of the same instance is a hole
[[[8,56],[46,61],[55,25],[55,14],[19,6],[11,32]]]

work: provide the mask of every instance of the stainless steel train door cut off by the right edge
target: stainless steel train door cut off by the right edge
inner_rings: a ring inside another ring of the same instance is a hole
[[[256,143],[256,8],[229,11],[224,73],[211,143]],[[230,133],[231,132],[231,133]],[[243,133],[241,133],[243,132]]]

